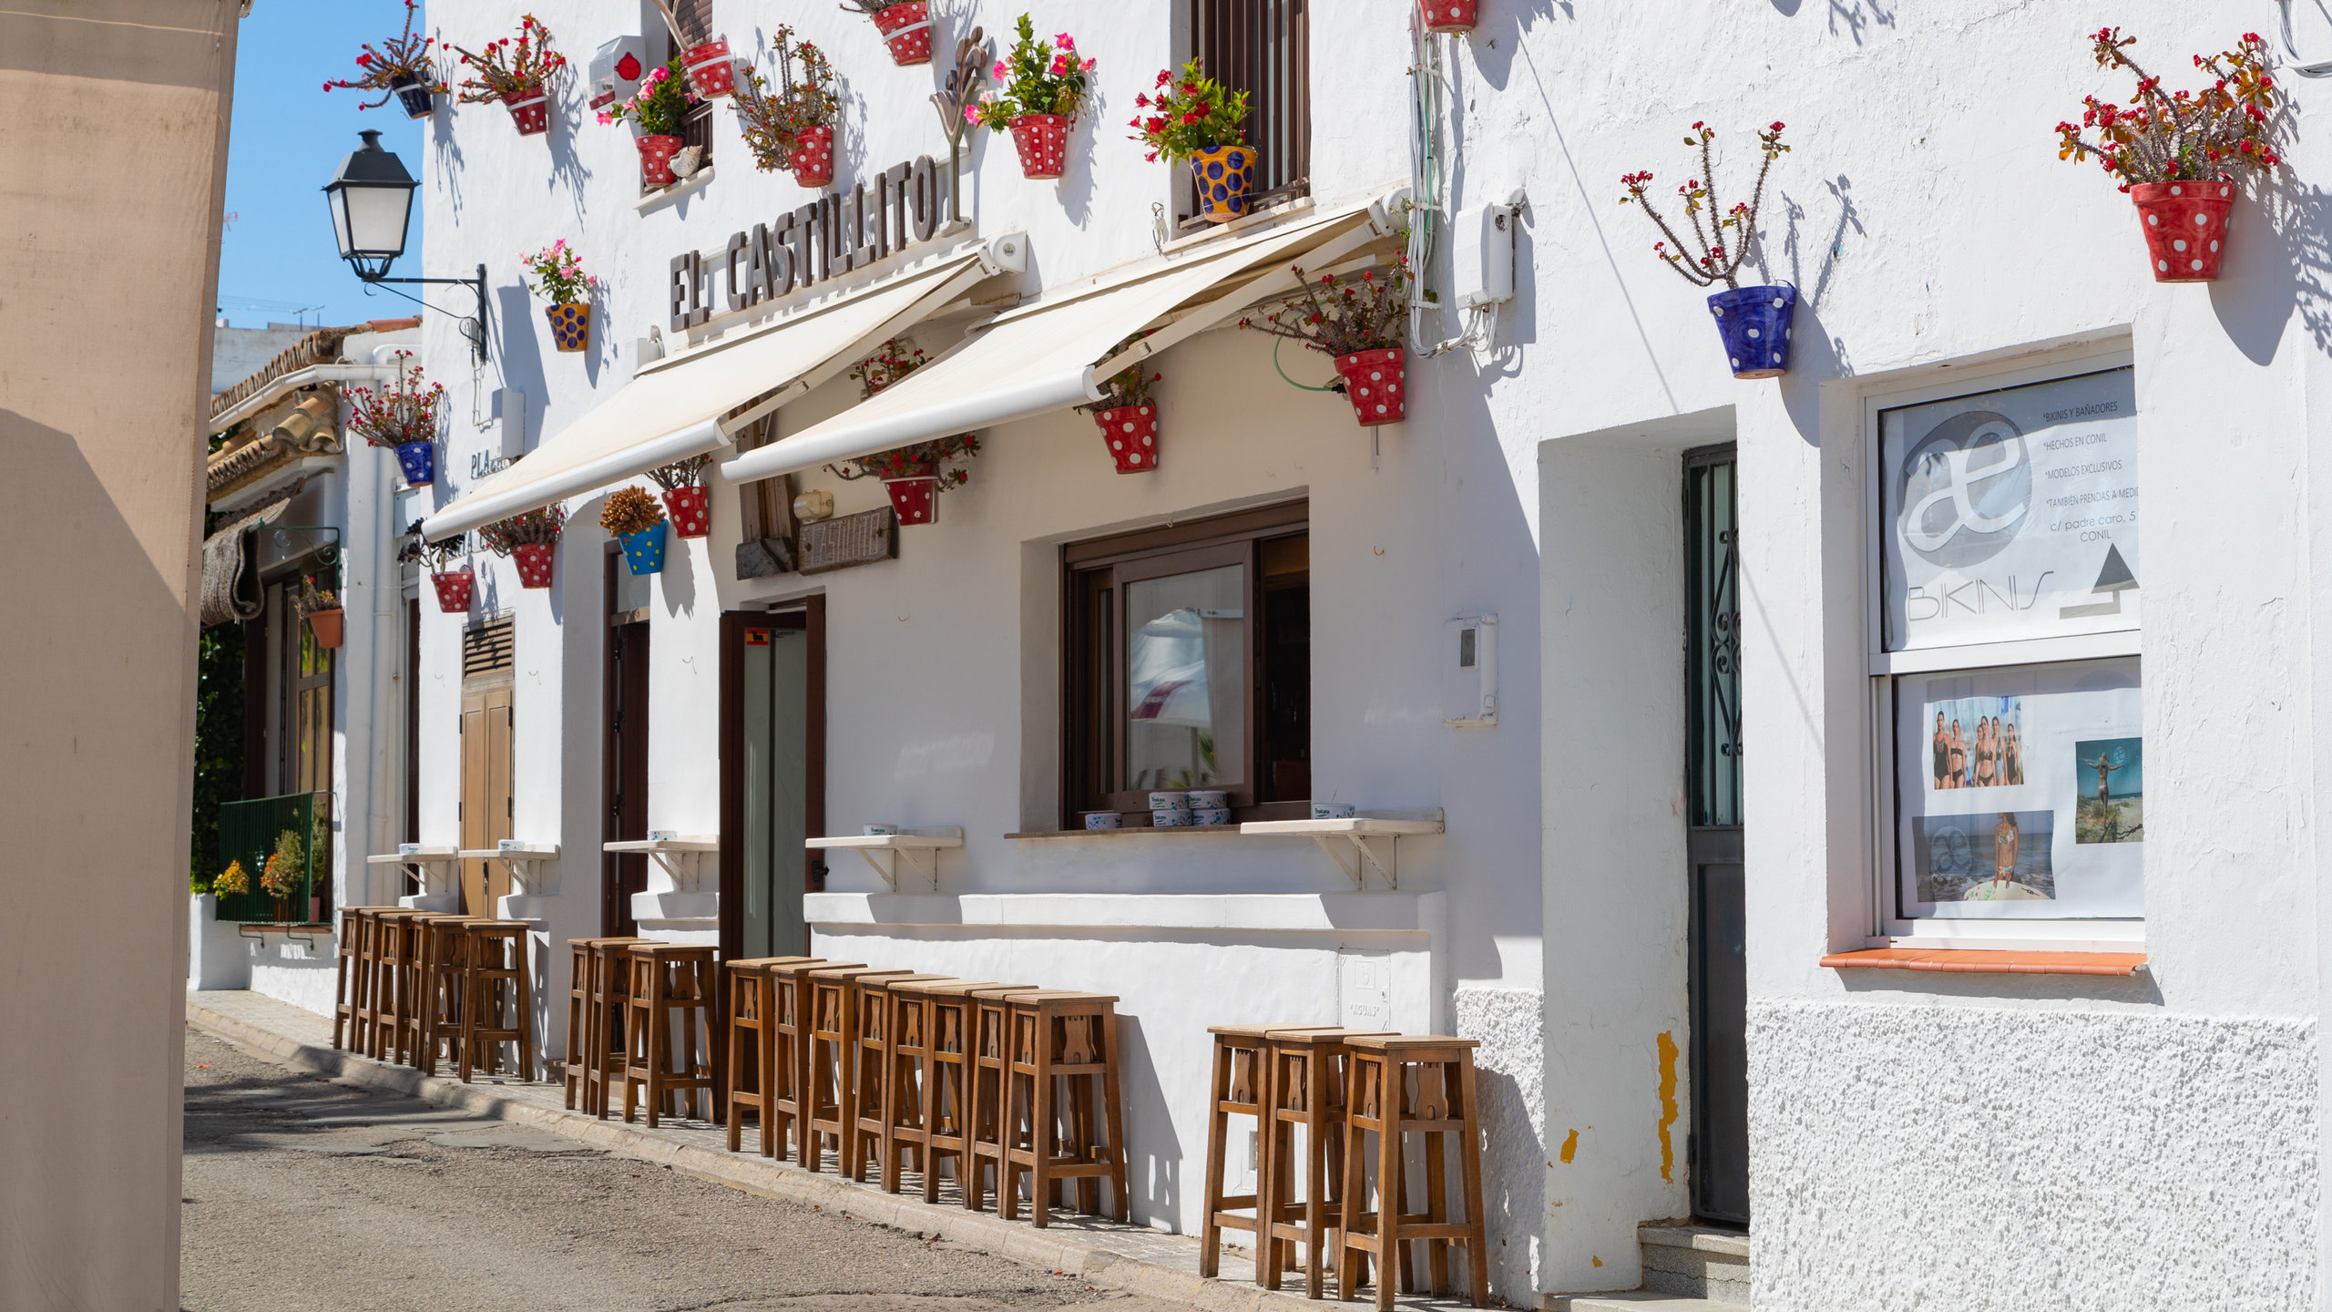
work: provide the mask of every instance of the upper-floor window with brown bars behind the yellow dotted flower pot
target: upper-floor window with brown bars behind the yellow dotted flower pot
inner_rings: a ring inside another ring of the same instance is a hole
[[[1208,77],[1248,93],[1255,198],[1311,194],[1311,0],[1192,0],[1189,51]],[[1199,212],[1196,191],[1182,212]]]

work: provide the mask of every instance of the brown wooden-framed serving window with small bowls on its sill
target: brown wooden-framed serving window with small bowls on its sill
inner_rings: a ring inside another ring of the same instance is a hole
[[[1311,798],[1306,504],[1063,551],[1063,826],[1145,815],[1150,789],[1224,789],[1238,819]]]

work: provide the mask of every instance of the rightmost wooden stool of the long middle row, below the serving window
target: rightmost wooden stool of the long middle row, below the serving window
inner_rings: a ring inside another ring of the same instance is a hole
[[[1031,1223],[1052,1223],[1054,1186],[1075,1181],[1077,1212],[1101,1216],[1101,1181],[1110,1181],[1117,1219],[1126,1219],[1126,1135],[1117,1102],[1117,997],[1038,990],[1012,995],[1012,1072],[1005,1083],[1003,1174],[996,1212],[1019,1214],[1019,1174],[1028,1172]]]

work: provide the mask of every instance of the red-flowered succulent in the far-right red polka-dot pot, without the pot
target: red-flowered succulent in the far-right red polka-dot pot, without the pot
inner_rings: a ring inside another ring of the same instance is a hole
[[[2267,72],[2267,42],[2243,33],[2234,49],[2194,56],[2194,68],[2213,77],[2201,91],[2162,91],[2162,79],[2122,54],[2138,37],[2120,28],[2089,35],[2099,68],[2127,68],[2138,79],[2131,107],[2082,96],[2080,126],[2057,124],[2057,159],[2096,159],[2129,191],[2134,182],[2201,182],[2227,177],[2236,168],[2267,173],[2283,163],[2274,152],[2269,114],[2276,110],[2276,79]],[[2225,63],[2220,63],[2225,61]],[[2096,128],[2089,142],[2080,128]]]

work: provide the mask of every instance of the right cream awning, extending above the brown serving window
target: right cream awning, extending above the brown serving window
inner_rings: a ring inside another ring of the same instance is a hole
[[[1143,264],[1152,268],[1070,287],[998,315],[947,355],[826,423],[723,460],[721,474],[767,479],[1098,402],[1096,376],[1108,378],[1259,296],[1294,287],[1292,261],[1325,268],[1390,233],[1381,203],[1353,205],[1234,240],[1220,252],[1150,259]],[[1110,355],[1145,327],[1154,327],[1147,339],[1124,357]]]

